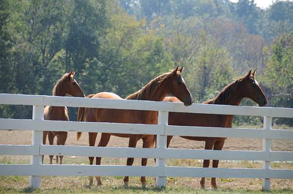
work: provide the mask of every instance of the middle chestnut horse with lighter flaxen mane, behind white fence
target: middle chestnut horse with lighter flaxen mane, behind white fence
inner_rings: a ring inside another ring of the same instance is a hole
[[[157,78],[151,80],[138,92],[129,95],[126,99],[133,100],[152,100],[162,101],[167,94],[178,97],[184,102],[184,105],[189,106],[192,104],[192,96],[188,91],[184,79],[181,77],[183,67],[178,70],[178,67],[172,72],[165,73]],[[89,97],[95,98],[111,98],[122,99],[116,94],[101,92]],[[114,123],[138,123],[138,124],[157,124],[158,112],[157,111],[140,111],[140,110],[118,110],[118,109],[100,109],[100,108],[80,108],[79,121],[88,122],[114,122]],[[77,140],[80,139],[82,133],[77,133]],[[95,146],[97,133],[88,133],[89,146]],[[143,139],[143,148],[151,148],[154,145],[154,135],[135,135],[135,134],[109,134],[102,133],[99,147],[105,147],[110,136],[119,136],[129,138],[128,147],[135,148],[139,139]],[[89,157],[90,165],[93,164],[94,157]],[[133,164],[134,158],[127,158],[127,166]],[[142,166],[146,166],[147,158],[142,158]],[[101,157],[96,157],[96,165],[101,164]],[[96,176],[98,185],[102,184],[100,176]],[[128,186],[128,176],[124,178],[125,187]],[[146,185],[146,177],[141,177],[141,183]],[[90,177],[91,186],[93,184],[93,177]]]

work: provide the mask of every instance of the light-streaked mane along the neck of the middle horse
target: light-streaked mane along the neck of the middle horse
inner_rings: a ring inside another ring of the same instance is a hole
[[[146,98],[149,97],[150,94],[152,94],[159,86],[162,85],[162,83],[165,81],[166,78],[168,78],[171,73],[172,71],[152,79],[144,87],[142,87],[142,89],[129,95],[125,99],[146,100]]]

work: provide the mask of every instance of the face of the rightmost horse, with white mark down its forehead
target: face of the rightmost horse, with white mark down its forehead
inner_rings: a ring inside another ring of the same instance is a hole
[[[260,88],[258,82],[254,78],[255,70],[251,71],[244,78],[244,89],[242,90],[245,97],[252,99],[259,106],[265,106],[268,103],[268,99]]]

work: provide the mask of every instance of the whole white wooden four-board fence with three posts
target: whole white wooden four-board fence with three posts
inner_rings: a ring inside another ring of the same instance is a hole
[[[140,100],[113,100],[80,97],[51,97],[0,94],[0,104],[33,105],[33,119],[0,118],[0,130],[32,130],[32,145],[0,145],[0,155],[31,155],[30,164],[0,164],[0,175],[28,175],[29,186],[39,188],[42,175],[113,175],[156,176],[158,187],[167,184],[166,176],[262,178],[263,189],[270,189],[270,178],[293,179],[293,170],[271,169],[271,161],[293,161],[293,152],[272,152],[271,139],[293,139],[293,131],[272,130],[272,117],[293,118],[293,109],[245,107],[153,102]],[[159,111],[157,125],[93,123],[43,120],[43,107],[72,106]],[[168,112],[264,116],[263,129],[235,129],[219,127],[169,126]],[[155,134],[157,148],[111,148],[88,146],[42,145],[42,131],[74,131],[96,133]],[[167,149],[167,136],[210,136],[263,139],[263,151],[213,151]],[[105,165],[42,165],[42,155],[76,155],[102,157],[157,158],[156,166]],[[193,168],[166,166],[167,158],[260,160],[262,169]]]

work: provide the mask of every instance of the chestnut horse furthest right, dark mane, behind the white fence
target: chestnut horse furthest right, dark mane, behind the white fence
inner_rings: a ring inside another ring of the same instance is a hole
[[[251,71],[243,78],[237,79],[226,86],[215,98],[204,102],[205,104],[222,104],[238,106],[245,97],[250,98],[259,106],[265,106],[268,103],[266,96],[254,79],[255,70]],[[165,97],[164,101],[180,102],[176,97]],[[169,113],[169,125],[177,126],[202,126],[202,127],[232,127],[233,115],[214,115],[214,114],[196,114],[196,113]],[[205,150],[222,150],[227,137],[195,137],[181,136],[189,140],[205,141]],[[167,137],[167,147],[170,144],[172,136]],[[212,160],[212,167],[217,168],[219,160]],[[204,168],[209,167],[209,160],[204,160]],[[205,178],[200,181],[202,188],[205,187]],[[216,188],[216,178],[211,178],[211,187]]]

